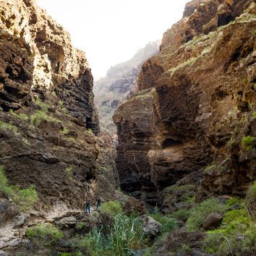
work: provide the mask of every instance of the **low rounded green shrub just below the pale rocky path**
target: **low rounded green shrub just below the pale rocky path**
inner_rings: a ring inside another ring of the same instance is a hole
[[[63,233],[51,223],[40,223],[38,226],[29,228],[25,235],[28,239],[46,247],[56,244],[63,237]]]

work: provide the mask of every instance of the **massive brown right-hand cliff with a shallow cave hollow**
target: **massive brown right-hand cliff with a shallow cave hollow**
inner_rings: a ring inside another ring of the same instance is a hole
[[[153,205],[195,173],[198,199],[244,195],[256,170],[255,8],[250,0],[191,1],[163,35],[137,94],[114,116],[125,191]]]

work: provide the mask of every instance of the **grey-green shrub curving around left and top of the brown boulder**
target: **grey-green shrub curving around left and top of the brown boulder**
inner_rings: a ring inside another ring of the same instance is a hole
[[[214,197],[200,202],[190,210],[189,218],[187,220],[187,229],[189,231],[200,230],[202,229],[202,224],[205,221],[205,218],[210,215],[210,213],[223,213],[223,211],[224,206]]]

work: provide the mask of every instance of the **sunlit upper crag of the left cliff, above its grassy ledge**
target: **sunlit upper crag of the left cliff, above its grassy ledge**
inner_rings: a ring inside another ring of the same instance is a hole
[[[18,109],[32,95],[56,93],[69,114],[98,132],[93,77],[69,33],[34,1],[1,2],[1,107]]]

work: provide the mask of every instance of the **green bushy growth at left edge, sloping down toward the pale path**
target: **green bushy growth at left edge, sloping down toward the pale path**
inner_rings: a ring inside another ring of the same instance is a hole
[[[20,189],[17,186],[9,186],[3,166],[0,166],[0,193],[4,193],[7,197],[12,197],[17,208],[22,212],[33,208],[35,202],[38,201],[38,193],[35,190],[35,186],[31,185],[25,189]]]

